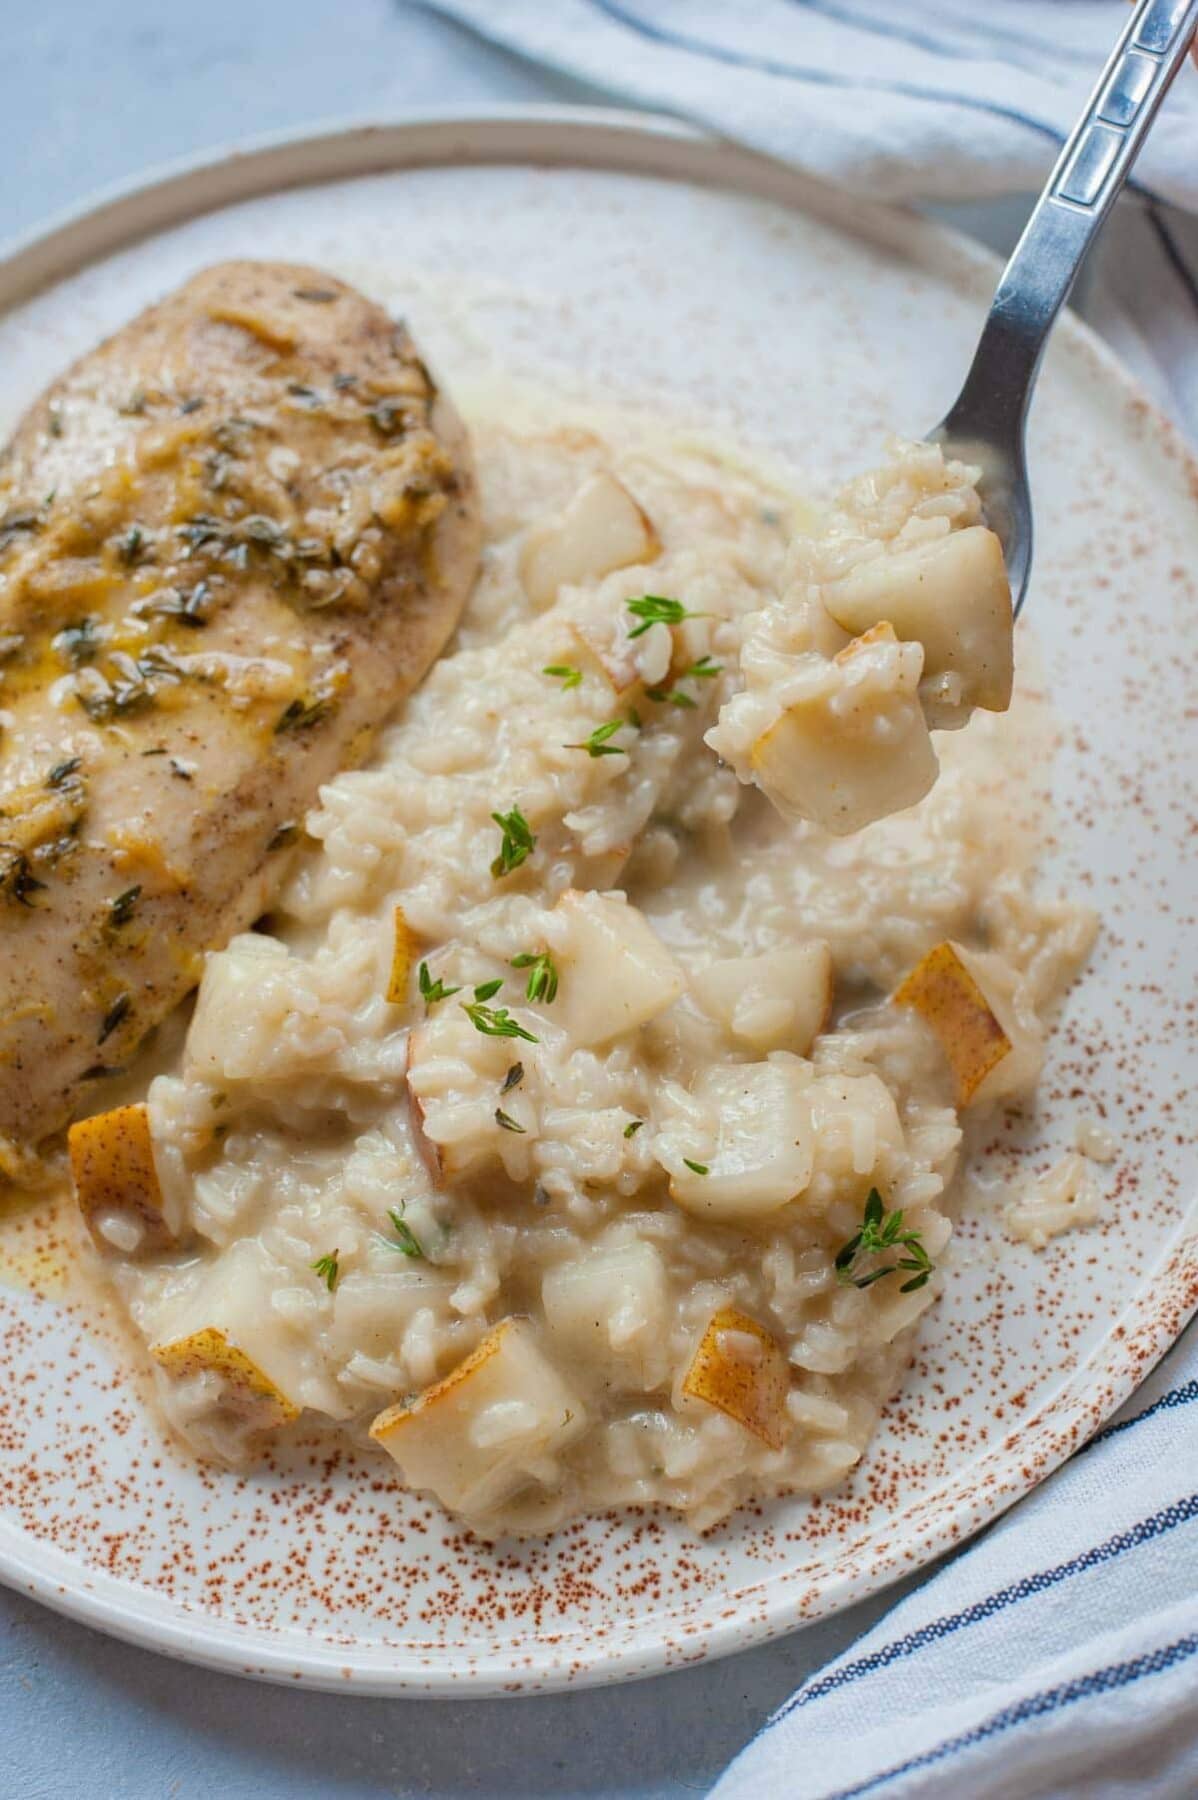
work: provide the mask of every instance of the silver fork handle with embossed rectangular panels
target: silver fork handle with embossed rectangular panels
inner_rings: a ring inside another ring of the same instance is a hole
[[[1139,0],[1002,272],[950,430],[982,407],[1022,430],[1052,322],[1196,29],[1198,0]]]

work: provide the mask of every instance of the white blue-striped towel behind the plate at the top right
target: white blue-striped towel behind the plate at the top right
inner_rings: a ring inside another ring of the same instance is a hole
[[[1038,189],[1126,20],[1122,0],[425,4],[621,101],[910,202]],[[1198,441],[1198,70],[1097,256],[1095,324]]]

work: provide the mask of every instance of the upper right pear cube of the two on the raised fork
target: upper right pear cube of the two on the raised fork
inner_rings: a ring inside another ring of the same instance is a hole
[[[827,583],[824,607],[845,632],[889,619],[901,639],[923,644],[921,698],[932,729],[964,725],[975,706],[1011,706],[1011,583],[986,526],[858,563]]]

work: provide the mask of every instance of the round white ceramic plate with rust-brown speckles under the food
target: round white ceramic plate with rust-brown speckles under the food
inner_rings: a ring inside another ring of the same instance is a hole
[[[0,414],[196,266],[327,265],[401,310],[455,392],[599,382],[824,488],[939,418],[993,284],[908,214],[689,131],[604,113],[426,121],[266,146],[90,209],[0,266]],[[41,288],[41,292],[34,292]],[[1104,1220],[1042,1255],[962,1224],[910,1379],[840,1492],[594,1519],[491,1552],[387,1467],[311,1436],[198,1469],[72,1274],[67,1208],[0,1229],[0,1575],[178,1656],[363,1692],[529,1692],[721,1654],[894,1580],[1090,1435],[1198,1298],[1185,1001],[1198,938],[1184,734],[1198,473],[1074,320],[1034,410],[1029,616],[1061,713],[1052,875],[1104,914],[1042,1111],[991,1170],[1047,1166],[1077,1112],[1119,1141]],[[1029,666],[1025,662],[1025,666]],[[1191,745],[1193,747],[1193,745]],[[1193,790],[1191,790],[1193,799]],[[1187,936],[1189,932],[1189,936]]]

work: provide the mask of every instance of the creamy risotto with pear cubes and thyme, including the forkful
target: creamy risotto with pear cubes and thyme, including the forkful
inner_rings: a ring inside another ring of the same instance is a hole
[[[1092,922],[1027,880],[1020,702],[939,736],[1011,688],[975,472],[817,517],[619,421],[477,455],[455,646],[79,1199],[198,1453],[308,1411],[486,1534],[707,1526],[860,1462]]]

